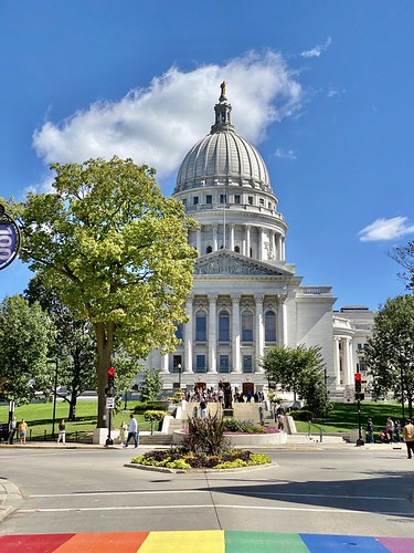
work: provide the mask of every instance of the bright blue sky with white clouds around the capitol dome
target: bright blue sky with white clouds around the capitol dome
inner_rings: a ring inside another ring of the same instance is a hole
[[[2,0],[0,196],[49,190],[52,161],[132,157],[166,195],[210,132],[220,83],[263,155],[305,285],[335,309],[404,292],[414,239],[414,2]],[[20,261],[0,300],[24,290]]]

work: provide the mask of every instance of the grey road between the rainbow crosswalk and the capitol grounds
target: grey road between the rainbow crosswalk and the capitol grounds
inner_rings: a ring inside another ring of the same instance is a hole
[[[185,474],[126,468],[135,452],[0,448],[0,482],[12,482],[23,497],[0,522],[0,535],[254,530],[414,536],[414,460],[404,448],[267,449],[269,468]]]

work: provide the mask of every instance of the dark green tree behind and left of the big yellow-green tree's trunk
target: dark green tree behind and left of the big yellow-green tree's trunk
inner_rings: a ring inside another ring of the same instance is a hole
[[[24,295],[30,304],[39,302],[49,313],[56,328],[56,340],[50,352],[57,359],[57,388],[67,389],[67,395],[52,393],[68,404],[68,420],[75,420],[78,396],[86,389],[96,389],[96,341],[92,323],[87,319],[76,320],[62,304],[59,291],[46,285],[40,275],[30,280]]]

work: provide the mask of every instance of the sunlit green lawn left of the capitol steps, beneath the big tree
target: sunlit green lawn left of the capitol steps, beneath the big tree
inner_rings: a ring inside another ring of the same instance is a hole
[[[134,410],[136,401],[128,401],[128,411],[113,411],[113,428],[119,428],[123,420],[128,424],[129,413]],[[131,409],[131,411],[129,411]],[[67,441],[91,441],[91,435],[96,428],[97,401],[82,400],[76,405],[76,420],[67,421],[68,405],[66,401],[56,403],[55,435],[57,437],[59,421],[64,418],[66,424]],[[22,418],[28,422],[28,439],[51,440],[53,425],[53,403],[39,403],[22,405],[14,411],[18,424]],[[0,422],[7,425],[9,418],[9,405],[0,406]],[[142,415],[136,416],[140,430],[150,430],[150,422],[144,419]]]

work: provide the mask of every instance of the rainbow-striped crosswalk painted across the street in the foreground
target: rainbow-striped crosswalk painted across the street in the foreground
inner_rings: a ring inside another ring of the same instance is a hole
[[[2,553],[412,553],[414,539],[201,530],[18,534],[0,536]]]

